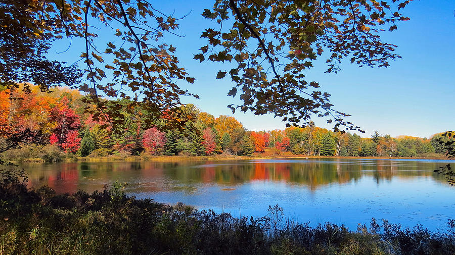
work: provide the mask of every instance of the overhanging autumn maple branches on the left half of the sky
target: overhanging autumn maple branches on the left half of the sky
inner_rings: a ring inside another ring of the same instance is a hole
[[[121,118],[113,118],[119,116],[119,106],[107,106],[100,96],[131,99],[131,107],[140,104],[156,118],[167,110],[175,125],[185,121],[180,96],[198,97],[178,87],[177,80],[194,83],[194,78],[179,67],[176,48],[162,40],[165,33],[175,34],[178,18],[155,10],[148,1],[4,0],[0,9],[0,85],[8,89],[21,81],[39,85],[41,91],[55,85],[78,88],[88,93],[86,103],[97,105],[85,111],[111,126],[121,124]],[[117,39],[99,36],[94,32],[98,26]],[[51,43],[63,37],[85,42],[78,49],[83,72],[46,58]],[[85,83],[79,86],[82,73]]]

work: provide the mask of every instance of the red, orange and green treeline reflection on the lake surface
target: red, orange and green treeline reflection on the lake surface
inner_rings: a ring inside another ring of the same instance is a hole
[[[358,182],[372,177],[377,185],[393,178],[432,178],[446,185],[433,170],[438,161],[403,160],[257,160],[257,161],[162,161],[26,164],[29,186],[50,185],[59,193],[77,189],[94,191],[115,180],[127,182],[129,190],[194,191],[197,184],[242,185],[254,181],[285,182],[311,191],[338,183]],[[191,187],[191,188],[190,188]]]

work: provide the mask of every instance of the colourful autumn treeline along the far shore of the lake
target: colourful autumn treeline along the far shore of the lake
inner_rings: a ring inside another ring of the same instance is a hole
[[[0,88],[0,146],[6,147],[8,136],[27,129],[40,137],[36,144],[8,149],[8,159],[41,158],[58,161],[67,156],[103,157],[108,155],[180,155],[210,156],[230,154],[251,156],[253,152],[274,155],[291,153],[311,156],[353,157],[441,157],[440,134],[430,139],[401,136],[392,138],[375,132],[370,138],[356,134],[334,133],[308,125],[285,130],[248,131],[234,117],[214,117],[194,105],[181,108],[189,121],[171,130],[165,129],[166,119],[156,119],[140,106],[129,108],[129,101],[112,121],[121,119],[114,130],[107,121],[96,121],[87,113],[90,105],[83,103],[77,90],[55,88],[41,92],[32,86],[25,93]],[[107,102],[109,106],[109,101]]]

